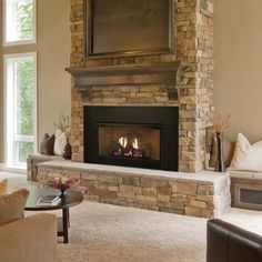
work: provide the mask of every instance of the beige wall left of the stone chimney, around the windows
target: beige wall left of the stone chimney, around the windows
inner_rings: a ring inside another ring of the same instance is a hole
[[[64,68],[70,66],[70,1],[38,0],[37,11],[37,44],[6,47],[0,51],[38,53],[38,137],[41,141],[46,132],[54,131],[53,122],[58,122],[61,112],[70,115],[71,83],[70,75],[64,71]],[[2,13],[2,10],[0,12]],[[2,104],[2,60],[0,64],[0,104]],[[3,145],[2,114],[0,107],[0,144]],[[0,147],[0,162],[3,162],[3,147]]]

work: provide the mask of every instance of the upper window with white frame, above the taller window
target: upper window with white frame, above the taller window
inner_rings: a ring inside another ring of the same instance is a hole
[[[36,0],[3,0],[4,46],[36,42]]]

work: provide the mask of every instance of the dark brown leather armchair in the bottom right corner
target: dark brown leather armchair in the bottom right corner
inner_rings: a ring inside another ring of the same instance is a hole
[[[262,236],[222,220],[208,221],[206,262],[262,262]]]

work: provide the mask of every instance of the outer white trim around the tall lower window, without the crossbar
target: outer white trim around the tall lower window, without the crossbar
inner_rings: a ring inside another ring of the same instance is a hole
[[[4,130],[3,130],[3,138],[4,138],[4,170],[13,170],[13,171],[22,171],[26,170],[26,165],[18,168],[7,168],[7,163],[8,163],[8,149],[7,149],[7,132],[8,132],[8,121],[7,121],[7,61],[10,58],[23,58],[23,57],[32,57],[33,59],[33,135],[34,135],[34,140],[32,141],[34,144],[34,152],[37,152],[38,150],[38,121],[37,121],[37,115],[38,115],[38,80],[37,80],[37,52],[21,52],[21,53],[11,53],[11,54],[4,54],[3,56],[3,115],[4,115]]]

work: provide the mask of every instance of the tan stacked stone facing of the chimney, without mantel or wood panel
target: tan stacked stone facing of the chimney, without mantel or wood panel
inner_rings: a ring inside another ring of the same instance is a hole
[[[72,87],[72,137],[74,161],[83,161],[83,105],[179,105],[179,170],[203,168],[205,128],[213,111],[213,0],[173,0],[174,53],[125,58],[84,59],[83,0],[71,0],[71,67],[100,67],[127,63],[183,61],[189,66],[180,83],[179,101],[169,101],[167,85],[92,87],[91,101],[84,101]]]

